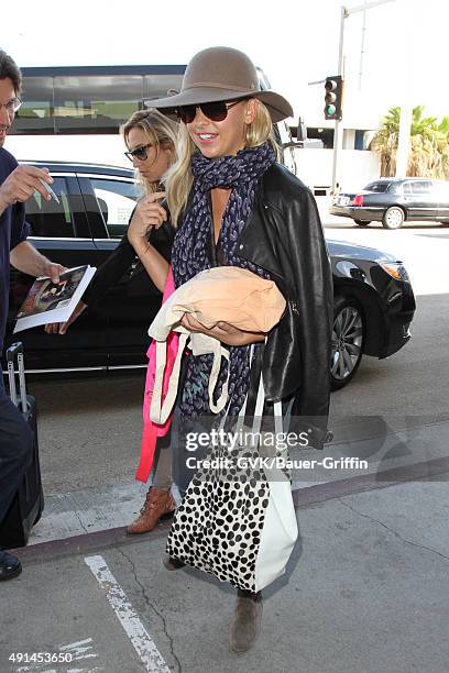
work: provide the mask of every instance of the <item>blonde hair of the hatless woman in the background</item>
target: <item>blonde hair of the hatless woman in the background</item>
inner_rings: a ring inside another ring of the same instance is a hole
[[[156,156],[154,161],[157,161],[160,150],[169,148],[169,165],[176,162],[176,135],[177,124],[176,122],[162,114],[154,108],[147,110],[139,110],[130,117],[130,119],[120,126],[120,133],[123,135],[124,142],[128,146],[128,136],[131,129],[140,129],[145,134],[149,143],[156,150]],[[143,185],[146,194],[153,194],[160,189],[160,180],[157,183],[151,183],[135,169],[135,181]]]

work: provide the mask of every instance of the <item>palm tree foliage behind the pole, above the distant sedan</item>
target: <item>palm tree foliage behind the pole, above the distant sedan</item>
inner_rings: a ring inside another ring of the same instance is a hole
[[[423,117],[423,111],[424,107],[417,106],[412,113],[407,176],[449,178],[449,117],[438,123],[436,117]],[[401,108],[390,108],[372,141],[385,177],[396,172],[399,120]]]

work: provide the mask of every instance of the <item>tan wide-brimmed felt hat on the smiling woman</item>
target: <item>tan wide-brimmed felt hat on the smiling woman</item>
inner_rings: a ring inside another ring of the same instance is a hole
[[[230,47],[210,47],[195,54],[184,74],[179,93],[145,100],[145,104],[171,115],[173,108],[179,106],[239,98],[261,100],[273,122],[293,117],[292,106],[283,96],[261,90],[252,60],[243,52]]]

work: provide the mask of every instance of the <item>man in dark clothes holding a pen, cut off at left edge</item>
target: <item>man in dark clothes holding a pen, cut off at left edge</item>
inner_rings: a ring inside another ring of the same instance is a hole
[[[33,276],[51,276],[59,280],[64,267],[50,262],[26,241],[29,227],[24,220],[23,202],[37,190],[43,198],[51,196],[42,185],[52,183],[45,169],[19,166],[3,150],[7,132],[20,107],[22,77],[8,54],[0,49],[0,353],[3,349],[10,264]],[[15,495],[20,479],[30,461],[33,437],[22,413],[6,393],[0,379],[0,523]],[[19,559],[0,551],[0,581],[11,580],[22,571]]]

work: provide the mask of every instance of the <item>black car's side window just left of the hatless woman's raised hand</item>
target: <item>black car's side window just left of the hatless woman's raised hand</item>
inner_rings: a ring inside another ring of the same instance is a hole
[[[90,178],[90,184],[111,239],[122,236],[136,200],[143,196],[140,185],[124,180]]]

